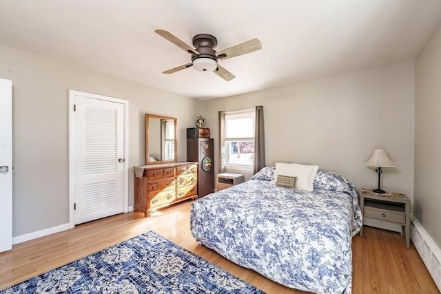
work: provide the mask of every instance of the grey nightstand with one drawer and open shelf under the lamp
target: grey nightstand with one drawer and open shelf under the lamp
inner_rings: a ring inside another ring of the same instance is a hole
[[[410,248],[411,202],[401,193],[375,193],[369,189],[361,189],[360,209],[363,214],[363,225],[397,231],[406,237],[406,247]],[[401,230],[397,230],[397,224]],[[360,237],[363,235],[363,227]]]

